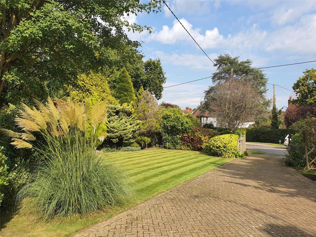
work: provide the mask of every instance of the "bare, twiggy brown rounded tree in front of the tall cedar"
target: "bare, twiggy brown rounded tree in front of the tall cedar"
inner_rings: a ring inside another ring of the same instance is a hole
[[[253,88],[252,83],[229,80],[205,91],[204,108],[213,114],[219,125],[233,133],[264,113],[263,100],[264,97]]]

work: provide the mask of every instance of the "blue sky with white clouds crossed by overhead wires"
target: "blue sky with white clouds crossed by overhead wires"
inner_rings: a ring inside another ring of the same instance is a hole
[[[229,53],[241,60],[251,59],[254,67],[316,60],[316,1],[166,1],[181,23],[206,54],[214,59]],[[132,33],[131,40],[143,41],[145,58],[160,58],[171,86],[211,76],[212,62],[198,48],[166,6],[158,14],[127,17],[130,23],[152,27],[152,33]],[[268,83],[292,90],[303,71],[316,62],[264,69]],[[163,91],[162,99],[195,108],[212,85],[210,79],[191,82]],[[273,86],[267,85],[268,98]],[[276,87],[276,106],[288,106],[295,93]],[[285,109],[285,108],[284,108]]]

